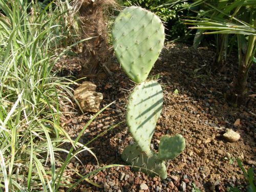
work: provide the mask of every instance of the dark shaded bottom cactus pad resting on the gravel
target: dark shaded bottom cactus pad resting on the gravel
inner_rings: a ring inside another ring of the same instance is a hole
[[[136,143],[124,148],[122,159],[132,165],[134,170],[151,176],[159,175],[161,179],[167,177],[166,167],[163,161],[158,159],[156,153],[153,151],[143,153]]]

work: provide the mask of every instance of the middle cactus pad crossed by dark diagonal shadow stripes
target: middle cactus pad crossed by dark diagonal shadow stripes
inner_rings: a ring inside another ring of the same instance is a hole
[[[151,139],[162,111],[162,105],[162,88],[154,80],[138,84],[128,99],[127,126],[143,152],[150,151]]]

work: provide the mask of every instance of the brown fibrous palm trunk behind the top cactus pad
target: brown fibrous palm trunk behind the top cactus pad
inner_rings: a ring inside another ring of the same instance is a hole
[[[107,15],[109,10],[116,7],[115,0],[83,0],[79,9],[80,29],[83,38],[95,37],[84,41],[83,56],[85,62],[83,68],[86,73],[96,74],[106,69],[113,50],[108,45]]]

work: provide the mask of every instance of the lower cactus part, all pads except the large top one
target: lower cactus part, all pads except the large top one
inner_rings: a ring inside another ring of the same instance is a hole
[[[150,149],[157,119],[163,105],[163,93],[157,81],[144,81],[136,86],[127,103],[126,121],[135,143],[127,146],[122,159],[133,165],[135,170],[149,175],[158,174],[161,179],[167,177],[164,160],[178,156],[185,147],[185,139],[181,135],[163,136],[159,144],[159,153]]]

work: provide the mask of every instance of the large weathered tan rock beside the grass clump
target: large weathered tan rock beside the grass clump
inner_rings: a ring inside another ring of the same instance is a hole
[[[78,100],[83,112],[98,112],[100,102],[103,99],[102,93],[97,93],[96,85],[89,81],[84,81],[80,87],[74,91],[74,96]]]

